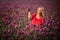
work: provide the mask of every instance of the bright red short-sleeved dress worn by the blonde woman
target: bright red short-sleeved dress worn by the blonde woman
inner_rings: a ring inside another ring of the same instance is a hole
[[[40,24],[44,23],[44,18],[40,17],[39,19],[36,18],[36,14],[32,14],[31,18],[31,24],[36,24],[38,25],[38,28],[40,28]],[[32,30],[34,27],[30,26],[30,30]]]

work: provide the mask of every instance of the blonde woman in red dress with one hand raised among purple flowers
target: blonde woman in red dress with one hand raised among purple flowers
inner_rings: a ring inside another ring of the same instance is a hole
[[[40,25],[44,23],[44,8],[37,8],[37,13],[31,13],[30,9],[28,9],[28,19],[30,20],[30,24],[38,25],[37,28],[40,28]],[[34,26],[30,25],[30,31],[34,29]]]

